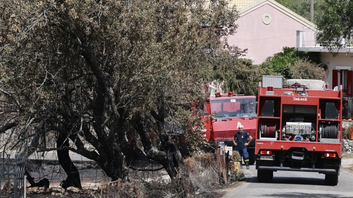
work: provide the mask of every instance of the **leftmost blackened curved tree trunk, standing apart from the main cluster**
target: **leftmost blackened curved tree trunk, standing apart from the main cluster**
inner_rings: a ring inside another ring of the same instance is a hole
[[[68,140],[65,140],[65,138],[60,133],[58,133],[58,138],[56,139],[56,148],[68,146]],[[57,150],[57,153],[60,166],[67,174],[67,178],[60,183],[61,187],[65,190],[70,186],[82,189],[80,174],[71,161],[71,158],[68,154],[68,149]]]

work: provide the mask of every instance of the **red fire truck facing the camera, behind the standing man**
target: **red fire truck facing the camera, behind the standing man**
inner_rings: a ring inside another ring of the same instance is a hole
[[[232,137],[238,132],[238,126],[244,125],[244,131],[255,136],[256,97],[233,94],[220,94],[203,101],[205,129],[203,136],[214,142],[215,146],[234,147]],[[214,114],[213,114],[214,113]],[[213,116],[211,116],[213,114]],[[255,138],[248,146],[249,163],[255,163]]]

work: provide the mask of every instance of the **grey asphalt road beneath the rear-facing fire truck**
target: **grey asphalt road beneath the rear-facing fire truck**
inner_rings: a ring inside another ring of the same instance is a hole
[[[268,183],[256,179],[255,165],[242,169],[245,182],[223,198],[276,197],[276,198],[353,198],[353,173],[341,168],[337,186],[325,185],[324,174],[277,171]]]

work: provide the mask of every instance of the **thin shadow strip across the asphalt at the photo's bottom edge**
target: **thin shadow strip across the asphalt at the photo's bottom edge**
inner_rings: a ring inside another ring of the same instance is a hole
[[[303,192],[286,192],[286,193],[270,193],[270,194],[261,194],[261,197],[286,197],[286,198],[347,198],[339,194],[310,194]],[[352,197],[348,197],[352,198]]]

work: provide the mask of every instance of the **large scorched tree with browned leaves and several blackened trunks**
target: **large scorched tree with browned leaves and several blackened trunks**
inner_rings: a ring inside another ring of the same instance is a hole
[[[172,178],[184,168],[166,126],[188,131],[203,62],[237,27],[227,1],[2,0],[0,8],[1,132],[15,132],[12,148],[28,150],[37,137],[37,151],[74,151],[113,180],[128,178],[137,153]],[[72,144],[49,144],[50,135]]]

